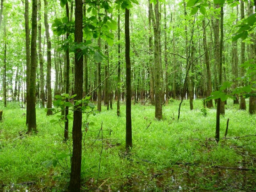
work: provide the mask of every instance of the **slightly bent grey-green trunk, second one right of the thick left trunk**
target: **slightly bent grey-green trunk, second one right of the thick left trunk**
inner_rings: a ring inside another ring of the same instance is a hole
[[[49,34],[49,24],[48,24],[48,0],[44,0],[44,25],[45,25],[45,36],[47,42],[47,75],[46,75],[46,86],[47,86],[47,114],[52,115],[52,88],[51,88],[51,40]]]

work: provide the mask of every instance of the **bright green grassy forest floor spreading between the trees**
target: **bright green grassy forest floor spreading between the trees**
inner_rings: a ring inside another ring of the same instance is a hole
[[[0,103],[0,191],[67,191],[72,143],[63,142],[63,125],[38,108],[38,132],[28,136],[21,105]],[[193,111],[184,100],[179,121],[179,100],[163,106],[161,121],[154,106],[132,105],[129,156],[125,105],[120,117],[113,108],[102,107],[84,123],[82,191],[256,191],[256,115],[238,110],[232,100],[221,116],[219,145],[216,109],[202,110],[202,100],[194,101]]]

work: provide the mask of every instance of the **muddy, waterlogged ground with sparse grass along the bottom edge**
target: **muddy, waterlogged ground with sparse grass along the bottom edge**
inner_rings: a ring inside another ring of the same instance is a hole
[[[150,175],[138,170],[122,184],[89,179],[82,191],[256,191],[256,172],[241,167],[209,167],[179,164]],[[100,186],[100,188],[99,188]],[[0,191],[67,191],[67,186],[45,186],[44,182],[24,182],[0,186]]]

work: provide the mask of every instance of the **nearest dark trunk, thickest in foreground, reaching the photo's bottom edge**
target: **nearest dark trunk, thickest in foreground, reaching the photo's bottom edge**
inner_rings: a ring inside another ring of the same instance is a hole
[[[83,0],[76,0],[75,8],[75,42],[83,42]],[[83,56],[81,49],[76,50],[75,54],[75,93],[76,99],[83,98]],[[81,183],[81,160],[82,160],[82,111],[81,105],[74,109],[73,121],[73,154],[70,173],[70,191],[80,191]]]

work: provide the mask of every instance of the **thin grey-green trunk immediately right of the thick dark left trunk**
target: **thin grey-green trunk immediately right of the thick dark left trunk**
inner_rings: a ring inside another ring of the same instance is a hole
[[[44,108],[44,60],[42,56],[41,0],[38,0],[38,57],[40,64],[40,100],[41,108]]]

